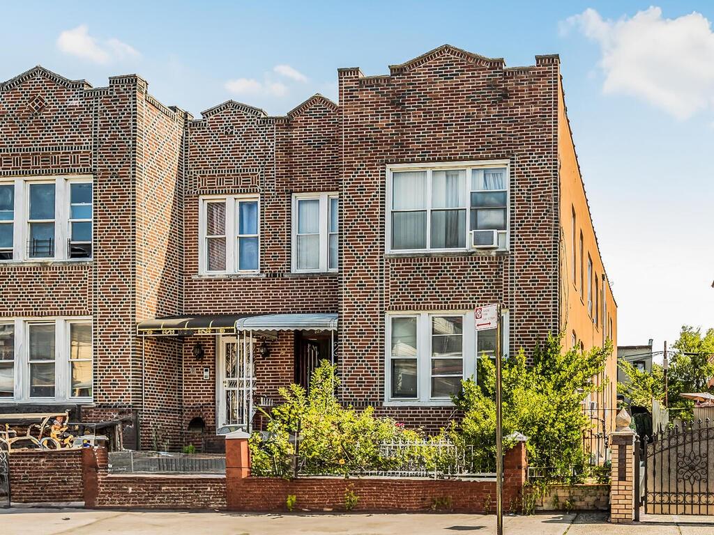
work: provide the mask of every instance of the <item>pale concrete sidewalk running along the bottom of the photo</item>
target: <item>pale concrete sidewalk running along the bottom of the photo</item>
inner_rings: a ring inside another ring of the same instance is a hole
[[[703,522],[710,522],[704,524]],[[605,514],[506,516],[506,535],[705,535],[712,517],[643,517],[630,526],[608,524]],[[0,509],[0,534],[156,535],[433,535],[496,533],[496,517],[478,514],[239,514],[216,511],[96,511]]]

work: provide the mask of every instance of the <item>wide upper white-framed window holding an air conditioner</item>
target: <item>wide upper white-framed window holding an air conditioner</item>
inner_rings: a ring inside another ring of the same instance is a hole
[[[508,161],[388,165],[386,252],[508,249]],[[484,231],[475,233],[472,230]],[[494,235],[496,238],[494,238]]]

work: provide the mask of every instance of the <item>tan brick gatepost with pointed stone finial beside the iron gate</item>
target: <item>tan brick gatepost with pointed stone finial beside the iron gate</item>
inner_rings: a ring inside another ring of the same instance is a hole
[[[610,522],[631,524],[635,519],[635,432],[630,415],[621,410],[610,434],[612,472],[610,483]],[[639,483],[639,481],[638,481]]]

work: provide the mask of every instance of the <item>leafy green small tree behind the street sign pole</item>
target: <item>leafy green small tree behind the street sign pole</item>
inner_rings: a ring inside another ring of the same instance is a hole
[[[583,430],[590,421],[583,401],[596,391],[593,377],[602,372],[611,355],[610,342],[587,352],[563,352],[559,336],[548,336],[533,352],[503,362],[503,435],[521,432],[528,437],[526,449],[534,466],[566,469],[583,463]],[[460,432],[478,451],[496,457],[496,366],[479,360],[478,384],[463,381],[463,391],[454,399],[463,411]],[[508,447],[508,444],[506,444]]]

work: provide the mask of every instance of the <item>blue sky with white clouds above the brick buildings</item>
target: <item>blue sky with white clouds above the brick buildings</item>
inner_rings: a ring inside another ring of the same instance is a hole
[[[121,7],[119,7],[121,6]],[[714,4],[706,1],[18,2],[0,79],[40,63],[104,86],[139,73],[167,105],[283,114],[336,99],[336,69],[388,72],[444,43],[530,65],[560,54],[620,344],[714,327]]]

